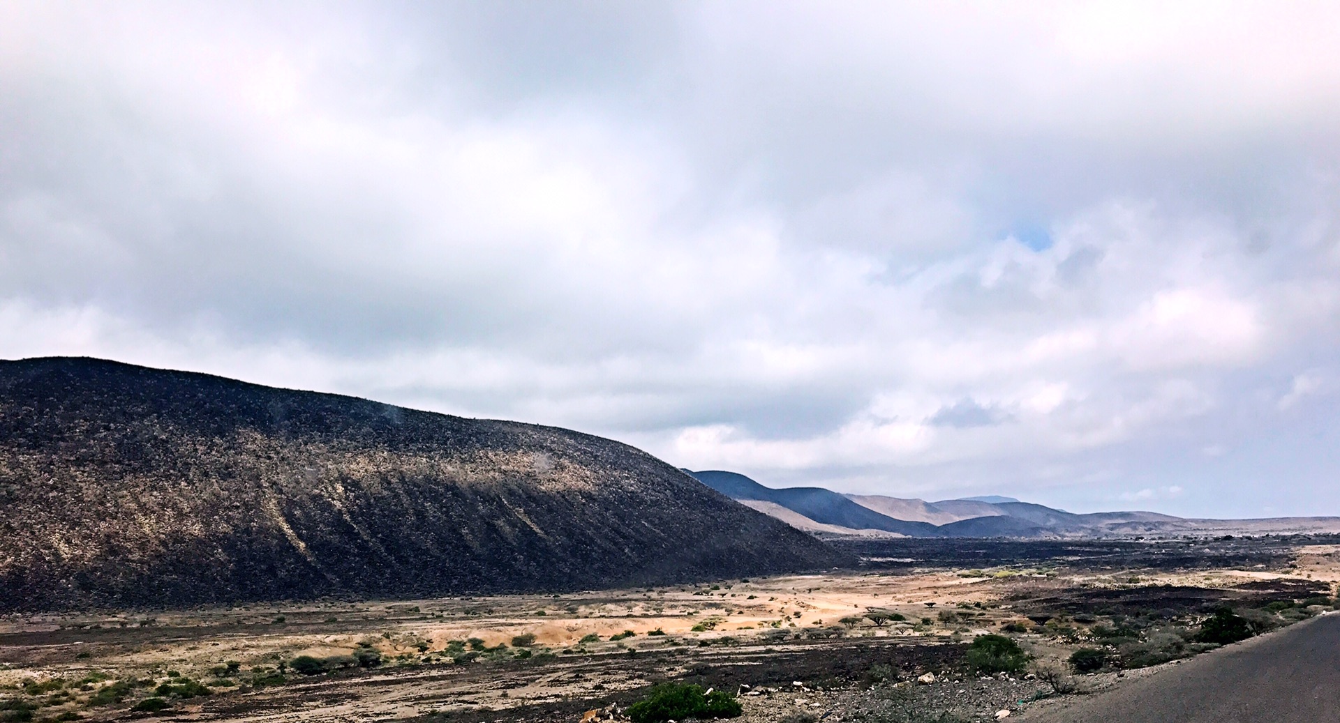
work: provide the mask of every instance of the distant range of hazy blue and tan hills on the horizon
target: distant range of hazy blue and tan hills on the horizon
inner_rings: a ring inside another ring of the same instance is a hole
[[[1075,514],[1000,495],[926,502],[876,494],[839,494],[823,487],[773,489],[722,470],[685,471],[744,505],[820,536],[1038,538],[1340,530],[1340,518],[1336,517],[1187,519],[1152,511]]]

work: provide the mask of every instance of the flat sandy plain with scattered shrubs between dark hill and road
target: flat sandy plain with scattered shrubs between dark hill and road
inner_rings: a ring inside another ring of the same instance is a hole
[[[9,615],[0,712],[579,720],[685,680],[738,692],[746,720],[899,720],[892,707],[986,720],[1060,695],[1034,673],[969,675],[963,653],[977,635],[1016,639],[1033,671],[1081,647],[1106,651],[1101,671],[1068,681],[1083,692],[1213,649],[1189,635],[1213,609],[1282,627],[1328,612],[1340,581],[1340,538],[1324,536],[858,540],[850,550],[860,568],[697,585]],[[915,684],[927,672],[937,681]]]

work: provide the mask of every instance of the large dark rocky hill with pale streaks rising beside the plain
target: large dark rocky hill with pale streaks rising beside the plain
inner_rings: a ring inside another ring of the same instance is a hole
[[[846,562],[627,445],[94,359],[0,362],[0,609]]]

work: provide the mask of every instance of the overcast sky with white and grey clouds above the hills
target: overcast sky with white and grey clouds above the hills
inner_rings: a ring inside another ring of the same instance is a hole
[[[1340,514],[1335,3],[0,0],[0,357]]]

